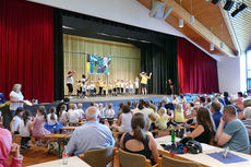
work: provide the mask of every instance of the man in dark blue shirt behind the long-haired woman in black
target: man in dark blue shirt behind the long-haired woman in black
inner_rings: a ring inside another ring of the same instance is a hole
[[[220,109],[222,109],[222,105],[218,102],[213,102],[211,107],[210,107],[210,110],[213,115],[213,120],[214,120],[214,124],[215,124],[216,129],[218,128],[218,124],[220,122],[220,118],[223,117]]]

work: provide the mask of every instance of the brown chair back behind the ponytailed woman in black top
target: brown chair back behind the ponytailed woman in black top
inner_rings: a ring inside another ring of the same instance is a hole
[[[150,160],[144,155],[133,154],[119,150],[119,163],[120,167],[146,167],[151,166]]]

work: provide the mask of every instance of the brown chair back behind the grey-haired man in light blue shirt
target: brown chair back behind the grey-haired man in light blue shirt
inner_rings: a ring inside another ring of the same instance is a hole
[[[112,160],[113,147],[91,150],[84,153],[83,160],[92,167],[106,167]]]

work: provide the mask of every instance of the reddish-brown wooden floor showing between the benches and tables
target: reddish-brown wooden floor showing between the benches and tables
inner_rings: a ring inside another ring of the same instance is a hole
[[[167,135],[166,132],[160,132],[158,134],[158,136],[164,136]],[[20,144],[19,140],[13,140],[14,143]],[[29,165],[35,165],[35,164],[40,164],[40,163],[46,163],[46,162],[50,162],[50,160],[56,160],[56,159],[60,159],[57,155],[51,155],[48,154],[48,150],[45,147],[36,147],[33,146],[29,150],[26,151],[21,151],[21,154],[23,155],[24,159],[23,159],[23,167],[29,166]],[[9,160],[10,162],[10,157]],[[115,167],[119,167],[118,160],[115,159]]]

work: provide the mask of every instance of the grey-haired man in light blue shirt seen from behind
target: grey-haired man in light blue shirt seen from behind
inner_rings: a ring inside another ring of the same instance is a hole
[[[88,150],[98,150],[115,145],[110,129],[97,121],[98,109],[96,107],[88,107],[85,116],[85,124],[74,130],[67,145],[69,155],[80,155]]]

